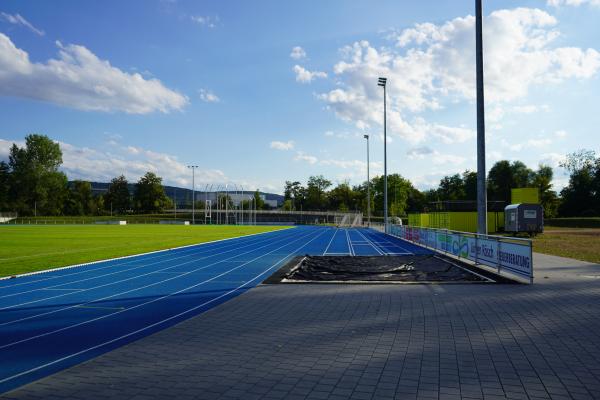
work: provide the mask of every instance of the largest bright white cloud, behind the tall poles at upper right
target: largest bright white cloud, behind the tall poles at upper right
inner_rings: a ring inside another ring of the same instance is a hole
[[[417,24],[395,33],[396,47],[358,41],[342,48],[333,71],[336,87],[318,98],[340,119],[363,129],[383,121],[381,88],[388,78],[388,129],[412,143],[436,137],[468,140],[472,131],[425,122],[424,112],[475,99],[475,19]],[[486,101],[491,121],[506,103],[525,98],[533,86],[586,79],[600,69],[595,49],[556,47],[557,20],[539,9],[492,12],[484,24]],[[514,112],[531,112],[522,106]],[[457,130],[458,129],[458,130]]]

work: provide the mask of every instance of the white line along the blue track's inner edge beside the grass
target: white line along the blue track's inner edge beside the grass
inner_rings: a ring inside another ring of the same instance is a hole
[[[38,280],[35,280],[35,281],[27,281],[27,282],[21,282],[21,283],[10,283],[10,284],[8,284],[6,286],[0,286],[0,290],[2,290],[2,289],[10,289],[10,288],[14,288],[16,286],[30,285],[32,283],[44,282],[44,281],[47,281],[47,280],[64,278],[64,277],[67,277],[67,276],[84,274],[84,273],[87,273],[87,272],[90,272],[90,271],[98,271],[98,270],[102,270],[102,269],[106,269],[106,268],[111,268],[111,267],[115,267],[115,266],[119,266],[119,265],[129,264],[129,262],[122,263],[122,264],[109,264],[109,265],[107,265],[105,267],[100,267],[100,268],[86,268],[84,271],[74,272],[72,274],[56,275],[56,272],[60,272],[60,271],[64,271],[64,270],[71,270],[71,269],[74,269],[74,268],[86,267],[86,266],[90,266],[90,265],[94,266],[96,264],[110,263],[111,261],[120,261],[120,260],[124,260],[124,259],[128,259],[128,258],[144,257],[144,256],[153,255],[153,254],[157,254],[157,257],[168,256],[169,255],[168,253],[171,252],[171,251],[180,251],[180,250],[181,251],[187,251],[187,249],[190,249],[190,251],[193,251],[194,247],[212,246],[213,244],[215,244],[215,245],[218,246],[218,245],[222,244],[221,242],[225,242],[225,241],[232,241],[233,242],[233,241],[238,240],[238,239],[245,239],[245,238],[252,237],[252,236],[267,235],[269,233],[279,233],[279,232],[287,231],[288,229],[290,229],[290,228],[276,230],[276,231],[266,231],[266,232],[251,233],[251,234],[248,234],[248,235],[236,236],[236,237],[232,237],[232,238],[210,240],[208,242],[203,242],[203,243],[188,244],[188,245],[184,245],[184,246],[172,247],[172,248],[169,248],[169,249],[154,250],[154,251],[148,251],[146,253],[132,254],[132,255],[129,255],[129,256],[114,257],[114,258],[109,258],[109,259],[105,259],[105,260],[96,260],[96,261],[91,261],[91,262],[82,263],[82,264],[67,265],[65,267],[52,268],[52,269],[46,269],[46,270],[42,270],[42,271],[35,271],[35,272],[29,272],[29,273],[25,273],[25,274],[19,274],[19,275],[16,275],[17,278],[28,277],[28,276],[32,276],[32,275],[42,275],[42,274],[46,274],[46,273],[52,273],[52,276],[44,278],[44,279],[38,279]],[[159,254],[159,253],[165,253],[165,254]],[[156,258],[156,257],[150,257],[150,259],[154,259],[154,258]],[[135,260],[132,261],[132,262],[135,262]],[[11,276],[0,277],[0,282],[2,282],[2,281],[10,281],[12,279],[13,278]]]

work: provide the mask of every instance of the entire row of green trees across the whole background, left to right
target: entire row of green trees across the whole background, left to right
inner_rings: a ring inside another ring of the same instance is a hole
[[[90,182],[68,182],[59,171],[62,164],[60,145],[44,135],[28,135],[25,146],[13,144],[8,162],[0,162],[0,211],[20,215],[106,215],[109,213],[157,213],[174,207],[166,196],[162,178],[153,172],[142,176],[130,191],[124,176],[114,178],[103,195],[94,195]],[[561,163],[569,173],[569,183],[560,193],[552,189],[553,170],[540,165],[532,170],[521,161],[496,162],[487,176],[488,200],[509,204],[511,189],[535,187],[546,217],[600,216],[600,156],[590,150],[567,155]],[[333,185],[322,175],[311,176],[305,185],[286,181],[284,210],[359,211],[367,212],[367,192],[371,194],[371,214],[383,215],[384,179],[376,176],[351,186],[348,182]],[[218,204],[233,208],[227,194]],[[431,210],[439,201],[477,199],[477,174],[465,171],[443,177],[437,187],[417,189],[399,174],[388,175],[388,210],[391,216]],[[244,209],[266,208],[258,191],[252,204],[245,200]],[[204,208],[204,202],[196,202]],[[213,208],[217,206],[213,205]]]

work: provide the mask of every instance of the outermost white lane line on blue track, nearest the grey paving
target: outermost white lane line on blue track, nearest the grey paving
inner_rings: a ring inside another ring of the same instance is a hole
[[[189,314],[189,313],[191,313],[191,312],[193,312],[193,311],[195,311],[195,310],[197,310],[197,309],[199,309],[199,308],[202,308],[202,307],[204,307],[204,306],[206,306],[206,305],[208,305],[208,304],[210,304],[210,303],[213,303],[213,302],[215,302],[215,301],[217,301],[217,300],[219,300],[219,299],[221,299],[221,298],[223,298],[223,297],[225,297],[225,296],[228,296],[228,295],[230,295],[231,293],[234,293],[234,292],[236,292],[236,291],[240,290],[241,288],[243,288],[244,286],[246,286],[248,283],[250,283],[250,282],[254,282],[256,279],[258,279],[259,277],[263,276],[264,274],[266,274],[267,272],[269,272],[270,270],[272,270],[273,268],[275,268],[277,265],[279,265],[279,264],[280,264],[282,261],[284,261],[284,260],[286,260],[288,257],[290,257],[290,255],[293,255],[293,254],[297,253],[298,251],[300,251],[300,250],[301,250],[303,247],[305,247],[306,245],[308,245],[310,242],[312,242],[313,240],[315,240],[317,237],[321,236],[323,233],[325,233],[325,231],[324,231],[324,232],[322,232],[322,233],[320,233],[319,235],[315,236],[314,238],[312,238],[311,240],[309,240],[308,242],[306,242],[304,245],[300,246],[298,249],[296,249],[296,250],[294,250],[293,252],[289,253],[287,256],[283,257],[282,259],[280,259],[279,261],[277,261],[275,264],[273,264],[271,267],[269,267],[269,268],[268,268],[268,269],[266,269],[265,271],[261,272],[260,274],[256,275],[254,278],[252,278],[252,279],[251,279],[251,280],[249,280],[248,282],[246,282],[246,283],[244,283],[244,284],[242,284],[242,285],[240,285],[240,286],[236,287],[235,289],[232,289],[232,290],[230,290],[229,292],[223,293],[222,295],[219,295],[219,296],[217,296],[217,297],[215,297],[215,298],[212,298],[212,299],[210,299],[210,300],[208,300],[208,301],[205,301],[205,302],[204,302],[204,303],[202,303],[202,304],[199,304],[199,305],[197,305],[197,306],[194,306],[194,307],[192,307],[192,308],[190,308],[190,309],[187,309],[187,310],[185,310],[185,311],[182,311],[182,312],[180,312],[179,314],[172,315],[172,316],[170,316],[169,318],[165,318],[165,319],[163,319],[162,321],[155,322],[155,323],[153,323],[153,324],[150,324],[150,325],[147,325],[147,326],[145,326],[145,327],[143,327],[143,328],[140,328],[140,329],[138,329],[138,330],[136,330],[136,331],[129,332],[129,333],[125,334],[125,335],[119,336],[118,338],[111,339],[111,340],[109,340],[109,341],[106,341],[106,342],[104,342],[104,343],[97,344],[97,345],[95,345],[95,346],[92,346],[92,347],[88,347],[87,349],[84,349],[84,350],[78,351],[77,353],[70,354],[70,355],[68,355],[68,356],[65,356],[65,357],[62,357],[62,358],[56,359],[56,360],[54,360],[54,361],[51,361],[51,362],[49,362],[49,363],[46,363],[46,364],[43,364],[43,365],[39,365],[39,366],[37,366],[37,367],[35,367],[35,368],[31,368],[30,370],[23,371],[23,372],[20,372],[20,373],[18,373],[18,374],[15,374],[15,375],[13,375],[13,376],[9,376],[9,377],[7,377],[7,378],[4,378],[4,379],[0,380],[0,384],[1,384],[1,383],[8,382],[8,381],[10,381],[10,380],[13,380],[13,379],[15,379],[15,378],[19,378],[19,377],[21,377],[21,376],[24,376],[24,375],[30,374],[30,373],[32,373],[32,372],[39,371],[40,369],[43,369],[43,368],[49,367],[49,366],[51,366],[51,365],[54,365],[54,364],[57,364],[57,363],[59,363],[59,362],[62,362],[62,361],[68,360],[68,359],[70,359],[70,358],[77,357],[77,356],[79,356],[79,355],[81,355],[81,354],[85,354],[85,353],[87,353],[87,352],[89,352],[89,351],[92,351],[92,350],[98,349],[98,348],[100,348],[100,347],[107,346],[107,345],[109,345],[109,344],[112,344],[112,343],[114,343],[114,342],[118,342],[119,340],[123,340],[123,339],[125,339],[125,338],[128,338],[128,337],[130,337],[130,336],[136,335],[136,334],[138,334],[138,333],[140,333],[140,332],[143,332],[143,331],[146,331],[146,330],[148,330],[148,329],[151,329],[151,328],[153,328],[153,327],[155,327],[155,326],[158,326],[158,325],[164,324],[165,322],[168,322],[168,321],[171,321],[171,320],[173,320],[173,319],[179,318],[179,317],[181,317],[181,316],[183,316],[183,315],[185,315],[185,314]],[[306,236],[308,236],[308,235],[306,235]],[[293,242],[291,242],[291,243],[293,243]],[[267,254],[269,254],[269,253],[267,253]],[[264,255],[266,255],[266,254],[264,254]],[[262,257],[262,256],[261,256],[261,257]],[[239,267],[237,267],[237,268],[239,268]],[[127,310],[125,310],[125,311],[127,311]],[[122,311],[121,311],[121,312],[122,312]]]

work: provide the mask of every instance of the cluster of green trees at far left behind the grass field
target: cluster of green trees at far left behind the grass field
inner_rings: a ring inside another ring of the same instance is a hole
[[[19,215],[105,215],[155,213],[173,207],[162,178],[147,172],[130,193],[127,179],[111,181],[104,195],[94,196],[90,182],[69,183],[59,171],[60,145],[44,135],[28,135],[25,146],[13,144],[8,162],[0,162],[0,211]]]

